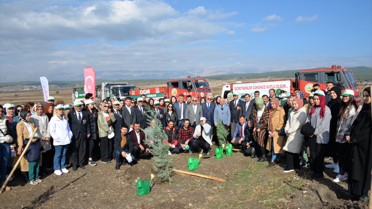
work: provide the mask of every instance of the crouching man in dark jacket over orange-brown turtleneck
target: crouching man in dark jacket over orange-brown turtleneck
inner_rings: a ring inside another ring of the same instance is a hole
[[[126,160],[128,155],[131,156],[132,160],[135,160],[134,156],[131,154],[133,152],[132,138],[131,135],[127,134],[127,132],[128,127],[122,126],[120,134],[115,136],[116,170],[120,169],[120,161],[124,161],[124,159]]]

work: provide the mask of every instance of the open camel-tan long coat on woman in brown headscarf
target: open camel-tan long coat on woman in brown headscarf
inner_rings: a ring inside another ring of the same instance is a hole
[[[284,128],[285,127],[285,112],[284,112],[283,107],[278,107],[278,109],[276,109],[276,112],[274,113],[273,118],[271,118],[271,114],[270,114],[269,122],[270,120],[272,120],[274,129],[279,130],[279,129]],[[285,145],[285,138],[286,138],[285,136],[281,136],[278,134],[278,132],[276,132],[275,136],[271,137],[271,139],[269,138],[269,140],[267,141],[266,149],[271,150],[271,141],[273,140],[275,153],[276,154],[284,153],[283,147]]]

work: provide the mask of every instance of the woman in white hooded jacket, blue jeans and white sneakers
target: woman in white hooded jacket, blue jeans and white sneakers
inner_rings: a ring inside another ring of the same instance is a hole
[[[54,174],[56,174],[57,176],[62,175],[62,172],[69,172],[65,167],[65,159],[68,144],[71,143],[72,131],[63,113],[64,106],[57,105],[55,115],[49,121],[49,131],[50,135],[53,138],[53,144],[55,148],[53,161]]]

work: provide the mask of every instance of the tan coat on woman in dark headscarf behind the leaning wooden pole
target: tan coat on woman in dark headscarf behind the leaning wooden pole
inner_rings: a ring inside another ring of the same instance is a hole
[[[31,126],[31,129],[34,130],[35,129],[35,124],[33,122],[30,121],[30,126]],[[25,145],[23,145],[23,142],[25,141],[25,139],[29,139],[30,138],[30,135],[28,133],[28,130],[25,126],[25,123],[23,121],[20,121],[19,123],[17,123],[17,146],[16,146],[16,152],[17,152],[17,149],[19,146],[23,146],[23,149],[25,148]],[[42,140],[40,140],[40,145],[41,146],[44,146]],[[40,154],[40,161],[39,161],[39,166],[41,166],[41,154]],[[16,162],[18,161],[20,155],[16,155],[16,157],[14,157],[13,159],[13,166],[16,164]],[[18,167],[21,168],[21,171],[28,171],[28,161],[27,161],[27,155],[23,155]]]

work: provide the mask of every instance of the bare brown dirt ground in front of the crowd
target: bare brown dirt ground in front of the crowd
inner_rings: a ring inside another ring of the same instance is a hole
[[[215,145],[212,145],[211,156]],[[173,155],[173,166],[187,170],[187,159],[197,153]],[[331,163],[327,161],[326,163]],[[153,170],[153,160],[122,165],[115,161],[97,166],[86,165],[62,176],[52,172],[42,176],[38,185],[25,184],[21,177],[9,182],[12,190],[0,195],[0,208],[140,208],[140,209],[217,209],[217,208],[368,208],[368,201],[354,201],[347,194],[347,183],[335,183],[331,169],[325,178],[308,178],[310,168],[283,173],[285,161],[272,168],[257,158],[240,152],[201,159],[199,168],[191,172],[218,177],[225,181],[173,173],[173,183],[162,183]],[[136,181],[155,174],[151,192],[137,196]]]

